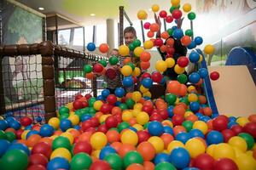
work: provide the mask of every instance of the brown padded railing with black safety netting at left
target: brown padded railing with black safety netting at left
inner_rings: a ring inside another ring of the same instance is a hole
[[[84,78],[83,67],[103,58],[52,42],[0,46],[1,115],[11,112],[34,121],[42,116],[47,121],[73,95],[96,96],[96,79]]]

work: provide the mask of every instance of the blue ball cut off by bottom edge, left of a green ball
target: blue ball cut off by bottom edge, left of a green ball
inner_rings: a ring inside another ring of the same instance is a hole
[[[69,162],[63,157],[55,157],[54,159],[49,161],[47,169],[69,169]]]

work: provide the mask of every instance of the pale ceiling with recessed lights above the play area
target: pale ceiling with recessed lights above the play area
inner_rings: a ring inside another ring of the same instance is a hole
[[[144,9],[148,18],[154,14],[149,9],[153,4],[158,4],[160,9],[168,10],[170,0],[17,0],[26,6],[38,10],[43,7],[44,14],[61,14],[82,26],[103,24],[107,19],[119,20],[119,6],[125,7],[125,12],[131,20],[137,20],[137,11]],[[195,0],[183,0],[183,3],[195,3]],[[96,14],[90,16],[90,14]]]

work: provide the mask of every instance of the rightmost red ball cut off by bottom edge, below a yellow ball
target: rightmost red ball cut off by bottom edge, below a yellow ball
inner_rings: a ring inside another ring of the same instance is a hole
[[[236,163],[229,158],[221,158],[215,161],[213,169],[219,170],[238,170]]]

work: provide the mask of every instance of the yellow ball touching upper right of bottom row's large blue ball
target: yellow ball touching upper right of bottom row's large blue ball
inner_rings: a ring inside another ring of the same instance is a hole
[[[195,158],[206,151],[206,146],[200,139],[189,139],[185,144],[185,148],[189,151],[189,155],[192,158]]]

